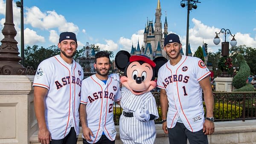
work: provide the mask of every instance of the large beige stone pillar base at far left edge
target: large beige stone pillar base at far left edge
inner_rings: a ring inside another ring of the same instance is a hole
[[[38,129],[34,75],[0,75],[0,144],[29,144]]]

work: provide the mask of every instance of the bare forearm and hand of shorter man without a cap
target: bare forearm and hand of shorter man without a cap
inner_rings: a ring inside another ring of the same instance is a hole
[[[80,115],[80,122],[82,125],[84,138],[87,141],[92,141],[92,139],[90,138],[90,135],[91,136],[94,136],[94,135],[93,135],[93,132],[90,130],[90,128],[87,126],[86,104],[80,104],[79,115]]]

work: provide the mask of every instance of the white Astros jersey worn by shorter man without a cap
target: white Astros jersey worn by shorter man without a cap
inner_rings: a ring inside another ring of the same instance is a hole
[[[103,131],[109,140],[115,140],[113,102],[120,100],[119,82],[111,77],[108,77],[106,84],[96,75],[83,80],[80,103],[86,104],[87,125],[94,135],[90,137],[93,141],[87,141],[88,143],[99,141]]]

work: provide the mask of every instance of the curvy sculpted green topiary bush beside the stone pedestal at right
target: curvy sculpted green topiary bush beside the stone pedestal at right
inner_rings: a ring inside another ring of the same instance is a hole
[[[239,71],[236,76],[233,78],[232,84],[236,89],[240,89],[241,87],[246,85],[246,80],[248,75],[250,75],[250,67],[244,60],[244,56],[238,54],[236,59],[239,63]]]

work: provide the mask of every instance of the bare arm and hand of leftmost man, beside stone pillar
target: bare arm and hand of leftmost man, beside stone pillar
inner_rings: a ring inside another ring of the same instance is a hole
[[[38,141],[41,144],[49,144],[52,141],[49,130],[45,122],[45,102],[44,98],[47,95],[48,89],[34,86],[34,108],[35,116],[38,121]]]

